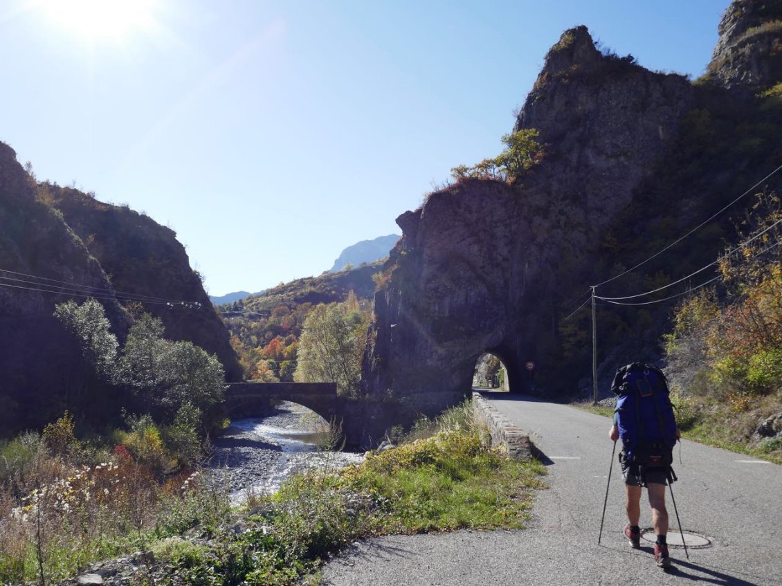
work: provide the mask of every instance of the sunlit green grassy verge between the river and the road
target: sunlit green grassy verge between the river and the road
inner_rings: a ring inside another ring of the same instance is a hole
[[[223,569],[199,583],[293,584],[360,538],[524,527],[544,467],[489,448],[466,419],[448,413],[428,438],[420,437],[427,426],[419,425],[418,439],[370,454],[360,465],[290,478],[271,497],[256,499],[241,534],[210,542],[202,555]],[[239,561],[221,566],[220,560]]]

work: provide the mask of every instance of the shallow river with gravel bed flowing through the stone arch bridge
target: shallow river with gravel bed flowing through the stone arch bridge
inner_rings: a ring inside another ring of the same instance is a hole
[[[292,473],[337,470],[360,463],[363,454],[328,447],[328,423],[306,407],[282,402],[270,416],[231,422],[214,441],[211,460],[231,502],[276,491]]]

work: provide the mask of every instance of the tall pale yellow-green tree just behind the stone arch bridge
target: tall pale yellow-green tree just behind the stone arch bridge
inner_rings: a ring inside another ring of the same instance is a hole
[[[312,309],[303,324],[293,380],[334,382],[340,395],[357,395],[369,320],[353,291],[343,303]]]

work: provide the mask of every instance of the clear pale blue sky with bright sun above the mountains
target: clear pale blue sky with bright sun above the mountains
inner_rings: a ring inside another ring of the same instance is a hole
[[[497,155],[561,33],[704,72],[728,0],[0,0],[0,141],[177,232],[210,295],[331,268]]]

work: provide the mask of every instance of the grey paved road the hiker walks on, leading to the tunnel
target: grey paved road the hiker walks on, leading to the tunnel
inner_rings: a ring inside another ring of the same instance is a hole
[[[689,560],[672,548],[676,567],[665,572],[655,566],[651,543],[632,550],[622,536],[618,466],[597,545],[612,448],[606,418],[531,398],[491,400],[530,432],[547,462],[550,488],[538,493],[529,528],[373,539],[328,563],[325,584],[782,585],[782,466],[683,441],[674,452],[676,504],[684,531],[712,545],[690,549]],[[676,527],[670,502],[669,509]],[[641,526],[651,526],[645,503]]]

